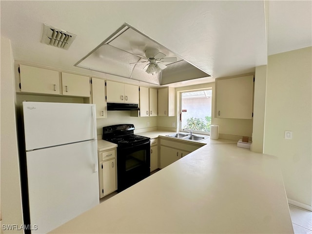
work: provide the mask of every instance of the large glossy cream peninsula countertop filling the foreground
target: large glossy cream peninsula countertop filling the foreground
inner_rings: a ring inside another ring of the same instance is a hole
[[[51,233],[293,233],[278,159],[207,144]]]

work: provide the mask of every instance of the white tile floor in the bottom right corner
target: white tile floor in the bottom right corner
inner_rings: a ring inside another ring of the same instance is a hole
[[[295,234],[312,234],[312,212],[289,205]]]

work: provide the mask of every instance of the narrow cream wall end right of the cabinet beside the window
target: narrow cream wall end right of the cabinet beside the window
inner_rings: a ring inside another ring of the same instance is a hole
[[[263,153],[266,82],[267,65],[256,67],[254,75],[254,122],[252,148],[252,151],[256,153]]]

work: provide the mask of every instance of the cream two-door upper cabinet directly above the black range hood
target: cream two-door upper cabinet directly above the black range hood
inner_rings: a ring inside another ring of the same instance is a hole
[[[132,84],[123,84],[111,80],[106,81],[107,102],[127,102],[138,103],[138,86]]]

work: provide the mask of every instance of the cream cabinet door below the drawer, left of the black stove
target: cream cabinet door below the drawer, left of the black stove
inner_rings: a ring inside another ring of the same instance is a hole
[[[116,190],[116,160],[111,159],[102,162],[103,196]]]

